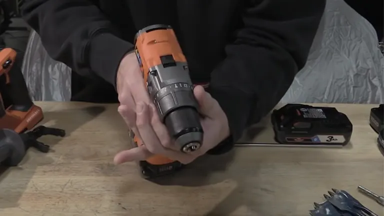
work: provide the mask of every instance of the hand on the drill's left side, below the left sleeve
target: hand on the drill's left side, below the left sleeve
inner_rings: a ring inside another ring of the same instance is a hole
[[[138,134],[136,128],[136,103],[150,103],[149,95],[134,52],[126,54],[118,67],[116,88],[120,106],[118,112],[125,123]],[[122,112],[124,114],[122,115]]]

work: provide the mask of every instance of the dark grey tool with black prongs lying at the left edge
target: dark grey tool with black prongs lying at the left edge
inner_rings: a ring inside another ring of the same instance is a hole
[[[65,130],[45,126],[37,126],[33,130],[17,133],[11,129],[0,129],[0,164],[16,166],[24,157],[29,147],[41,152],[48,152],[49,145],[37,139],[43,135],[65,136]]]

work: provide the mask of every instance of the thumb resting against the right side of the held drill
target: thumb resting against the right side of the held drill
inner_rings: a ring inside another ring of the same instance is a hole
[[[217,101],[201,85],[193,88],[193,94],[196,97],[201,114],[209,118],[215,118],[220,113],[220,106]]]

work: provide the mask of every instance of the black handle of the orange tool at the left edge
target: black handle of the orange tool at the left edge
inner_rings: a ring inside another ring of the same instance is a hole
[[[33,105],[29,96],[28,88],[25,84],[24,76],[16,64],[12,65],[8,72],[9,83],[7,84],[7,91],[12,100],[11,110],[28,111]]]

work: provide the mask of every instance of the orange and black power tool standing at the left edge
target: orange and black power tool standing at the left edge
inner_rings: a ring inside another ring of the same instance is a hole
[[[21,70],[13,66],[15,58],[15,50],[0,50],[0,129],[22,133],[32,129],[43,115],[29,96]]]

